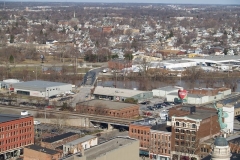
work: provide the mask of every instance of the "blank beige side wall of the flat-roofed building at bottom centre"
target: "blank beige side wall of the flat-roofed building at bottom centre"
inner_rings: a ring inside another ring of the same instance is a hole
[[[139,141],[99,155],[95,160],[139,160]]]

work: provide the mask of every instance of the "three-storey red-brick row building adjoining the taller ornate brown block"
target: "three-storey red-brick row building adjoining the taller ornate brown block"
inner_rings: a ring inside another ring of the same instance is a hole
[[[171,127],[155,119],[137,121],[129,126],[129,137],[140,140],[140,154],[152,159],[170,159]]]

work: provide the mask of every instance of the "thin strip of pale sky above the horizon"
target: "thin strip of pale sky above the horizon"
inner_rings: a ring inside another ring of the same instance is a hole
[[[240,4],[240,0],[0,0],[33,2],[104,2],[104,3],[173,3],[173,4]]]

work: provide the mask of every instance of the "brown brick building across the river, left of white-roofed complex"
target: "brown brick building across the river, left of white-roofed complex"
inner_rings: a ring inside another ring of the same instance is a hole
[[[108,61],[108,68],[112,70],[122,70],[123,68],[132,67],[132,62],[124,59],[112,59]]]

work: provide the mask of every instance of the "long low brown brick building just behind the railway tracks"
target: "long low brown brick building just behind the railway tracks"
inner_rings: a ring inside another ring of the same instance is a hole
[[[139,106],[137,104],[94,99],[77,103],[76,111],[88,114],[132,118],[139,115]]]

